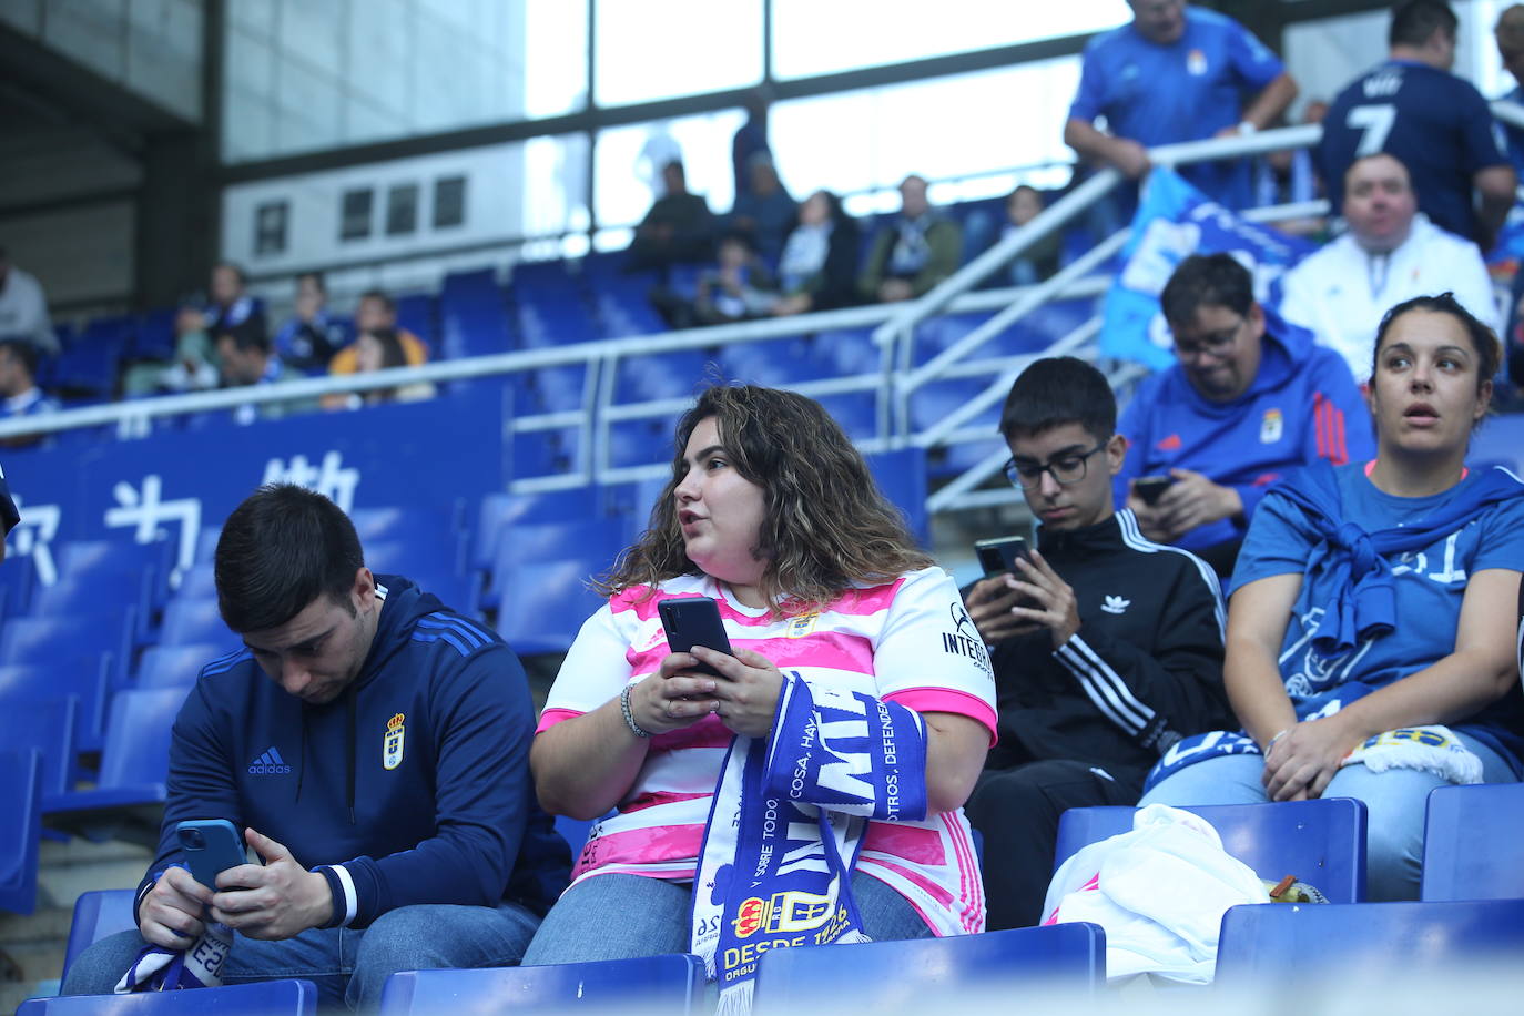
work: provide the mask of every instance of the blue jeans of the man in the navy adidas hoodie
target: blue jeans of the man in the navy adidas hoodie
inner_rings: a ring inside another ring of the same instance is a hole
[[[283,941],[235,932],[223,984],[302,978],[317,986],[323,1007],[375,1011],[381,987],[398,970],[506,967],[518,963],[539,920],[517,903],[401,906],[369,928],[312,928]],[[107,995],[143,938],[123,931],[85,949],[69,967],[62,995]]]

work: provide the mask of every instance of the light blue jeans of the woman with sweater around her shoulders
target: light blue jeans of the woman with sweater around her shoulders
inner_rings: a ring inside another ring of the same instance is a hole
[[[1504,759],[1469,734],[1455,733],[1481,759],[1483,783],[1513,783]],[[1256,804],[1266,801],[1259,781],[1260,756],[1218,756],[1186,766],[1143,795],[1143,804]],[[1416,900],[1423,874],[1423,815],[1430,791],[1448,781],[1422,769],[1372,772],[1344,766],[1323,797],[1353,797],[1366,803],[1366,897],[1373,902]]]

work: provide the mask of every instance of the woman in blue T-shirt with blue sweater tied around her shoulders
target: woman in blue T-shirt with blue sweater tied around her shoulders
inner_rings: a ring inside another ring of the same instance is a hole
[[[1362,800],[1367,896],[1393,900],[1417,897],[1431,789],[1519,780],[1524,484],[1465,462],[1500,355],[1448,292],[1387,312],[1376,458],[1289,477],[1244,541],[1224,682],[1245,736],[1181,742],[1141,804]]]

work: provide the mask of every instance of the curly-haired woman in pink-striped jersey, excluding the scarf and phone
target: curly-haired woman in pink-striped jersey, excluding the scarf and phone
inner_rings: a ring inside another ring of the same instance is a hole
[[[951,577],[817,402],[706,390],[678,423],[651,527],[605,591],[550,690],[530,763],[547,810],[617,812],[594,826],[526,964],[690,951],[716,777],[735,736],[770,734],[780,669],[924,722],[925,818],[870,821],[850,876],[866,934],[983,929],[962,806],[995,736],[989,660]],[[671,652],[657,602],[683,596],[718,602],[735,657]]]

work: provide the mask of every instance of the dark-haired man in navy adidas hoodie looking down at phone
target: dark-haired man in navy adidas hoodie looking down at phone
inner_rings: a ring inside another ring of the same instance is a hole
[[[175,720],[139,931],[81,955],[66,993],[110,992],[145,940],[190,946],[203,908],[236,932],[224,982],[308,978],[329,1005],[375,1008],[395,970],[518,963],[570,855],[535,803],[512,650],[372,576],[347,516],[296,486],[229,516],[216,589],[245,647]],[[198,885],[177,867],[189,818],[230,820],[264,864]]]

